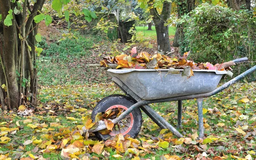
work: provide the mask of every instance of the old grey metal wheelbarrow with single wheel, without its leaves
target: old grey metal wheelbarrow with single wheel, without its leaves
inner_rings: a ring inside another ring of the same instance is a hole
[[[235,63],[248,61],[248,58],[233,60]],[[168,70],[150,69],[108,69],[114,83],[127,95],[107,96],[96,105],[92,112],[93,121],[98,113],[105,113],[115,109],[123,110],[111,120],[115,126],[109,134],[101,134],[99,131],[106,129],[105,122],[100,120],[97,128],[83,131],[94,132],[96,137],[107,140],[117,134],[136,137],[142,125],[142,111],[144,111],[160,128],[169,129],[178,138],[183,137],[177,131],[181,127],[182,100],[197,99],[199,138],[204,137],[203,124],[203,98],[215,95],[230,85],[253,73],[256,66],[236,76],[225,84],[217,87],[221,77],[226,71],[218,70],[193,70],[194,76],[189,79],[180,74],[168,74]],[[154,111],[148,104],[178,101],[177,129],[169,124],[162,116]]]

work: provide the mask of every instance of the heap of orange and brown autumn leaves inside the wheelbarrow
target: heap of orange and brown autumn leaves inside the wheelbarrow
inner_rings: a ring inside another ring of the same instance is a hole
[[[101,67],[109,67],[113,69],[169,69],[170,74],[179,74],[177,69],[184,69],[182,76],[194,76],[193,70],[232,70],[230,67],[235,65],[233,61],[222,64],[212,65],[211,63],[195,63],[186,60],[189,52],[185,52],[179,58],[171,58],[167,55],[155,53],[154,55],[148,52],[137,53],[136,47],[131,49],[131,54],[108,56],[100,61]]]

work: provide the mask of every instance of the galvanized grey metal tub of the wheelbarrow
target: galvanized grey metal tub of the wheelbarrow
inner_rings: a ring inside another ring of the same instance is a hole
[[[168,70],[147,69],[108,69],[112,77],[120,79],[141,99],[153,100],[199,93],[214,90],[226,71],[193,70],[190,78],[180,74],[167,74]]]

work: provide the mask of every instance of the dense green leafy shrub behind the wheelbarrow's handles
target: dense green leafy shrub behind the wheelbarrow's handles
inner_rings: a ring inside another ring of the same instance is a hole
[[[233,11],[204,3],[180,20],[183,52],[196,62],[221,63],[236,58],[256,59],[256,18],[247,10]],[[253,64],[250,64],[250,66]],[[249,65],[239,68],[247,70]]]

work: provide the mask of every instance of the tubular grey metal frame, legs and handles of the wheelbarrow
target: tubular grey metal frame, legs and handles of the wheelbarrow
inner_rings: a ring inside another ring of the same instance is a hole
[[[236,60],[233,60],[234,62],[241,62],[245,61],[247,58],[239,58]],[[245,71],[244,73],[240,74],[239,76],[236,76],[235,78],[231,79],[230,81],[226,82],[222,86],[216,88],[215,90],[209,92],[209,93],[201,93],[201,94],[195,94],[195,95],[188,95],[188,96],[179,96],[179,97],[172,97],[172,98],[166,98],[166,99],[155,99],[155,100],[142,100],[139,96],[137,96],[135,93],[132,92],[131,89],[129,89],[121,80],[119,80],[116,77],[113,77],[113,81],[118,84],[118,86],[128,95],[131,96],[133,99],[137,101],[134,105],[132,105],[128,110],[123,112],[119,117],[116,119],[113,119],[112,122],[116,124],[117,122],[121,121],[125,116],[127,116],[129,113],[134,111],[134,109],[140,107],[143,108],[142,110],[145,111],[145,113],[159,125],[161,128],[168,128],[170,131],[172,131],[173,134],[175,134],[177,137],[183,137],[172,125],[169,124],[163,117],[161,117],[158,113],[156,113],[148,104],[151,103],[160,103],[160,102],[171,102],[171,101],[178,101],[178,127],[181,126],[181,112],[182,112],[182,100],[186,99],[197,99],[198,104],[198,124],[199,124],[199,137],[204,137],[204,123],[203,123],[203,98],[209,97],[212,95],[215,95],[222,90],[226,89],[230,85],[236,83],[240,79],[244,78],[245,76],[249,75],[250,73],[253,73],[256,71],[256,66],[250,68],[249,70]],[[95,132],[100,131],[102,129],[106,128],[105,123],[99,122],[100,125],[94,130],[86,130],[85,127],[83,127],[84,132]],[[179,126],[180,125],[180,126]]]

